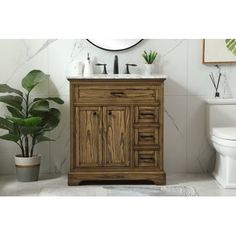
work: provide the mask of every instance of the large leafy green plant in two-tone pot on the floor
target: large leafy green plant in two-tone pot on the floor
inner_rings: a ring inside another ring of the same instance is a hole
[[[9,112],[0,117],[0,128],[7,131],[0,139],[12,141],[21,152],[15,155],[16,175],[19,181],[37,181],[40,158],[35,153],[35,145],[44,141],[53,141],[45,133],[53,130],[60,121],[60,111],[51,107],[51,102],[63,104],[58,97],[31,98],[31,91],[49,75],[40,70],[30,71],[21,81],[24,92],[7,84],[0,84],[0,102],[6,104]],[[13,94],[13,95],[11,95]]]

